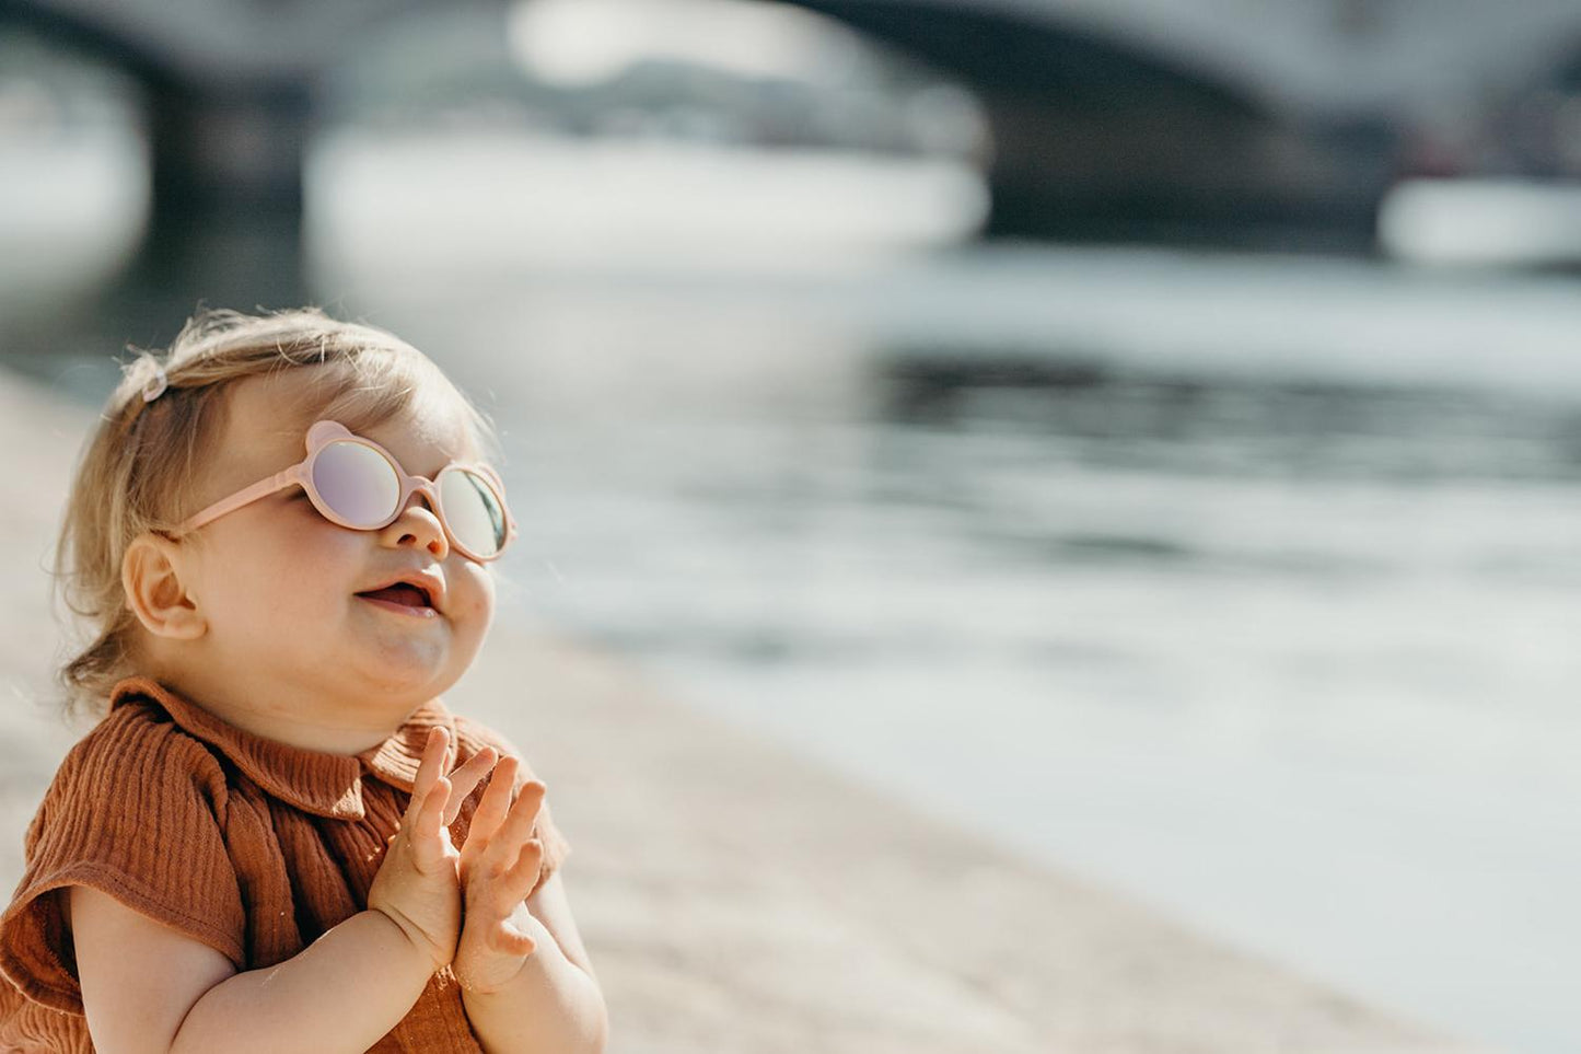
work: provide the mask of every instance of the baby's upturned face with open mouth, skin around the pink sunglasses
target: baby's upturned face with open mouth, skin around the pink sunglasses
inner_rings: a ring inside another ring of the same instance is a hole
[[[315,373],[294,369],[236,386],[196,506],[302,461],[311,423],[296,421],[291,408]],[[449,404],[419,404],[364,434],[430,480],[452,461],[477,459]],[[449,546],[421,494],[391,525],[351,530],[324,519],[292,486],[198,535],[190,592],[207,622],[198,654],[209,669],[193,679],[210,696],[234,693],[234,704],[285,707],[275,718],[394,728],[455,684],[493,619],[492,571]],[[413,571],[443,579],[436,614],[359,597]]]

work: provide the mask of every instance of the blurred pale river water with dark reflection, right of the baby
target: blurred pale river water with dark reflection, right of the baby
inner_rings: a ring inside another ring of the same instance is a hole
[[[432,214],[403,241],[433,187],[402,169],[362,228],[323,171],[321,298],[500,419],[501,617],[1404,1014],[1581,1049],[1570,283],[1050,248],[568,271]]]

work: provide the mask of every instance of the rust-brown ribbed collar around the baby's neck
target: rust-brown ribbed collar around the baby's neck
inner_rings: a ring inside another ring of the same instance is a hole
[[[323,753],[255,736],[231,725],[153,677],[122,679],[109,709],[147,700],[183,731],[215,747],[269,794],[305,812],[335,820],[362,820],[362,777],[375,775],[411,793],[428,730],[443,725],[455,741],[455,717],[440,700],[419,706],[384,742],[362,753]]]

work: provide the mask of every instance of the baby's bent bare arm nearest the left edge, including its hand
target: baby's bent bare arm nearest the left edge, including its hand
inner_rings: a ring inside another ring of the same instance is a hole
[[[493,764],[479,752],[451,779],[449,739],[430,736],[370,910],[274,967],[237,973],[213,948],[106,893],[71,888],[82,1003],[101,1054],[367,1051],[449,962],[458,926],[455,859],[444,825]]]

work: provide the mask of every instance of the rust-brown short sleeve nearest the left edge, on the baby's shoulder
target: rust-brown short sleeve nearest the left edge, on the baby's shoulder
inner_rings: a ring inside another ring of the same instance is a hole
[[[108,893],[242,967],[223,769],[160,718],[141,706],[106,717],[66,755],[27,829],[27,867],[0,915],[0,970],[33,1002],[82,1013],[68,886]]]

